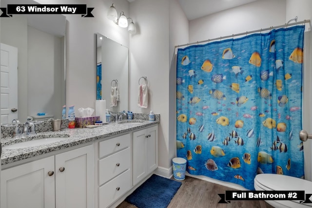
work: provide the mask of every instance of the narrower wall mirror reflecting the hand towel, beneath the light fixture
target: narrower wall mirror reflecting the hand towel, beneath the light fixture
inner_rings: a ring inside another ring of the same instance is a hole
[[[97,99],[106,100],[106,109],[128,110],[128,48],[97,34]]]

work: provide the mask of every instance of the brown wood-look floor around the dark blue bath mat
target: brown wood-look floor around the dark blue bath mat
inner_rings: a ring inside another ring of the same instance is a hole
[[[218,204],[218,193],[224,194],[225,190],[235,189],[186,176],[168,208],[273,208],[265,201],[231,201],[230,204]],[[117,208],[136,206],[123,201]]]

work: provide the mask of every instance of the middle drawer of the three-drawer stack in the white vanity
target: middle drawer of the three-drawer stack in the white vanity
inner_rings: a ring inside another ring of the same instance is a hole
[[[102,185],[121,172],[130,169],[130,148],[118,151],[98,162],[98,184]]]

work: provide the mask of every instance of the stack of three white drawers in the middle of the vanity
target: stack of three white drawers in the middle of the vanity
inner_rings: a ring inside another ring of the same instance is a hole
[[[131,136],[117,136],[98,144],[98,207],[106,208],[131,186]]]

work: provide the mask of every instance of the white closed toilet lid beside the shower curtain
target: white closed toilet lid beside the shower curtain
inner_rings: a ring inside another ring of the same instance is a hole
[[[312,193],[312,182],[300,178],[279,174],[258,174],[255,182],[271,190],[304,190]]]

